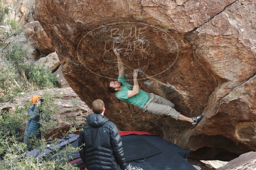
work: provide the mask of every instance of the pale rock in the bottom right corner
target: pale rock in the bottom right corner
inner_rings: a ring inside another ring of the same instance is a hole
[[[238,158],[231,160],[227,165],[217,170],[255,170],[256,152],[248,152],[240,155]]]

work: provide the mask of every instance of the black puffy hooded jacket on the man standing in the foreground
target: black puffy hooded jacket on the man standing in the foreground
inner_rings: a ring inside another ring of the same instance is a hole
[[[121,136],[108,117],[90,114],[79,135],[80,157],[89,170],[126,168]]]

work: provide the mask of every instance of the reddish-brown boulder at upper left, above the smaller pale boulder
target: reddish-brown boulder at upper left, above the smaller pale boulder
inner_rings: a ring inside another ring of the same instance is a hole
[[[51,39],[44,32],[43,27],[38,21],[30,22],[23,26],[24,32],[28,38],[34,42],[36,49],[41,53],[49,54],[54,52],[51,44]]]

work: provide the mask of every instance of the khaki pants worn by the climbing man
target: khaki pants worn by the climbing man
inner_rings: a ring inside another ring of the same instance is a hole
[[[172,118],[178,120],[180,112],[177,112],[174,108],[174,104],[164,97],[155,95],[154,93],[149,93],[148,102],[143,106],[142,110],[144,112],[158,114],[158,115],[168,115]]]

